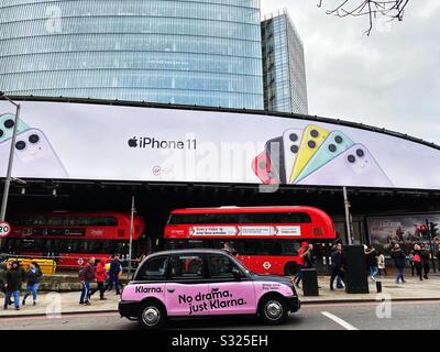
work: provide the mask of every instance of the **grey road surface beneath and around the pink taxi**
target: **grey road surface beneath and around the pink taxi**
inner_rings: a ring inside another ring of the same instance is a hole
[[[399,301],[389,307],[377,302],[307,305],[278,327],[266,327],[252,318],[184,319],[167,324],[183,330],[440,330],[439,301]],[[138,330],[136,322],[118,314],[87,314],[46,317],[2,318],[0,330]]]

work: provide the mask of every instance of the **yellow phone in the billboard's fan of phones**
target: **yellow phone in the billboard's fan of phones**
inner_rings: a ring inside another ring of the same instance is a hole
[[[304,130],[299,153],[296,157],[289,179],[290,184],[295,183],[298,175],[302,172],[310,158],[314,157],[329,134],[330,131],[315,124],[310,124]]]

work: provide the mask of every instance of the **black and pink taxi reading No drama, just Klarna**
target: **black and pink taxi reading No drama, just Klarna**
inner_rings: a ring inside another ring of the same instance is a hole
[[[168,318],[258,316],[282,323],[300,307],[290,279],[249,272],[219,250],[179,250],[147,256],[123,289],[119,312],[145,329]]]

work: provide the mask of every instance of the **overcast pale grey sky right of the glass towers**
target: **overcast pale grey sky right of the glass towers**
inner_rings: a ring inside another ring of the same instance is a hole
[[[309,113],[383,127],[440,144],[440,0],[411,0],[403,22],[374,25],[326,9],[341,0],[261,0],[287,9],[304,41]],[[359,2],[359,0],[352,0]]]

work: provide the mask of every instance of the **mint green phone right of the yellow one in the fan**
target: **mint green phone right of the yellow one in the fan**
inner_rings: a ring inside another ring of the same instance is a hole
[[[354,145],[354,142],[341,131],[332,131],[314,157],[307,163],[304,169],[298,175],[296,183],[307,177],[322,165],[327,164],[339,154],[345,152]]]

